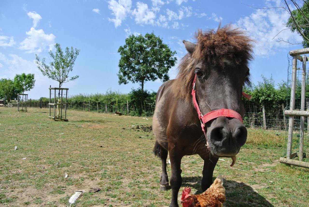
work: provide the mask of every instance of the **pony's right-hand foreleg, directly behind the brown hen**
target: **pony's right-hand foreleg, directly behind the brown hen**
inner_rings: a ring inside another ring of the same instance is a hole
[[[216,167],[216,164],[218,162],[218,158],[215,158],[210,155],[210,157],[207,157],[204,159],[204,167],[203,167],[203,178],[201,187],[203,192],[207,190],[210,185],[213,183],[212,177],[214,173],[214,167]]]

